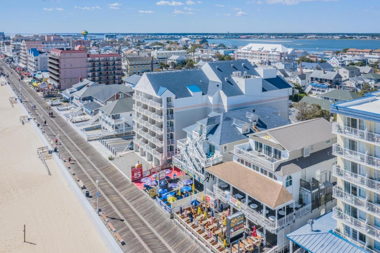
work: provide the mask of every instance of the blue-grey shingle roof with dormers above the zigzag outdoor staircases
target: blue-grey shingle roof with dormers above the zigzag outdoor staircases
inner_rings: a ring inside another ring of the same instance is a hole
[[[215,145],[223,145],[226,143],[241,141],[247,139],[247,134],[254,133],[256,130],[252,128],[252,123],[246,117],[247,112],[252,112],[255,110],[255,114],[259,116],[258,122],[256,124],[256,128],[260,131],[267,130],[270,128],[274,128],[277,126],[287,125],[290,122],[282,119],[277,116],[278,110],[270,107],[249,107],[245,109],[239,109],[230,112],[223,112],[220,116],[212,116],[207,117],[199,123],[209,123],[209,125],[215,125],[212,130],[210,130],[207,135],[207,141],[215,144]],[[208,119],[210,118],[210,121]],[[219,121],[217,121],[219,120]],[[249,133],[242,134],[233,125],[234,120],[241,120],[249,123],[250,131]],[[191,128],[184,128],[185,131],[190,130]]]

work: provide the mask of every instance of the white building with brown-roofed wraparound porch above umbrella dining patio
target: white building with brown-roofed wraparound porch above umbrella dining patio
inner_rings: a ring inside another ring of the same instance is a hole
[[[264,245],[270,240],[277,252],[286,251],[287,233],[336,205],[331,130],[331,123],[319,118],[249,134],[247,142],[229,150],[233,161],[205,169],[206,198],[243,212],[246,226],[256,226]]]

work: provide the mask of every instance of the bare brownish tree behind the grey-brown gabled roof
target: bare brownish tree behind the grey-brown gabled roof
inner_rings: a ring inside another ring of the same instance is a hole
[[[298,111],[296,119],[299,121],[317,118],[324,118],[330,121],[330,112],[322,109],[319,104],[295,103],[294,108]]]

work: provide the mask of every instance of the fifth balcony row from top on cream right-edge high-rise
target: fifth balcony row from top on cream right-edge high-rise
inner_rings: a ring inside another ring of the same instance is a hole
[[[364,221],[360,221],[354,217],[351,217],[350,215],[338,210],[337,207],[334,207],[332,209],[332,217],[336,218],[339,221],[342,221],[345,225],[348,225],[351,228],[354,228],[366,234],[367,236],[374,238],[375,240],[380,240],[379,229],[366,224]]]

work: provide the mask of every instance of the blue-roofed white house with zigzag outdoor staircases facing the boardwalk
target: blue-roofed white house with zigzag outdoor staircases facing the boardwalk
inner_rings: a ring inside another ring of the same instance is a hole
[[[207,118],[183,129],[187,136],[177,141],[173,165],[204,184],[205,169],[232,161],[233,154],[229,151],[247,142],[248,134],[287,124],[290,122],[270,106],[211,112]]]

